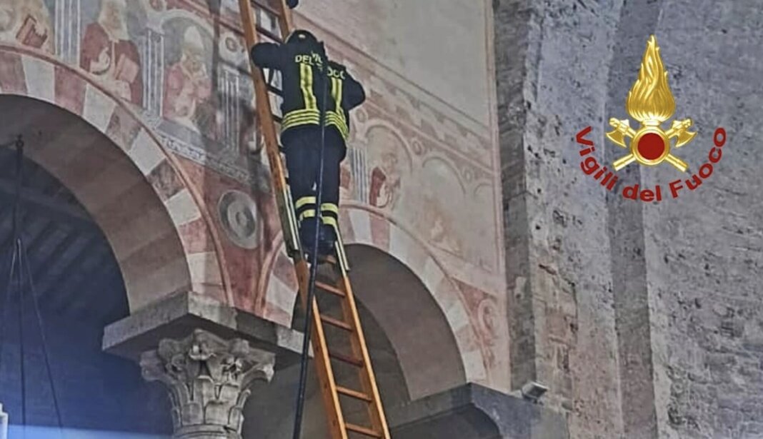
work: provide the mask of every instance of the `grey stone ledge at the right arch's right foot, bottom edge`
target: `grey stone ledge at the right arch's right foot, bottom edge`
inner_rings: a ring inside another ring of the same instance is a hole
[[[563,415],[478,384],[389,408],[395,439],[568,439]]]

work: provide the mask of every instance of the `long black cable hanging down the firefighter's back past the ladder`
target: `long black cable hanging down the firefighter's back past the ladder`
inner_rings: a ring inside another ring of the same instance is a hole
[[[323,48],[323,44],[321,44]],[[324,52],[325,54],[325,52]],[[304,319],[304,340],[302,341],[302,362],[299,373],[299,391],[297,394],[297,410],[294,420],[294,435],[293,439],[300,439],[302,428],[302,412],[304,410],[304,393],[307,387],[307,353],[310,348],[310,333],[312,326],[310,321],[313,315],[313,301],[315,295],[315,277],[318,271],[318,236],[320,231],[320,218],[321,209],[320,204],[323,195],[323,183],[324,183],[324,149],[326,146],[326,99],[328,93],[328,60],[324,56],[322,59],[324,62],[324,75],[323,75],[323,89],[321,90],[322,105],[320,107],[320,152],[318,155],[318,181],[317,181],[317,194],[315,197],[315,237],[313,240],[313,252],[312,261],[310,264],[310,278],[307,283],[307,309],[305,310]]]

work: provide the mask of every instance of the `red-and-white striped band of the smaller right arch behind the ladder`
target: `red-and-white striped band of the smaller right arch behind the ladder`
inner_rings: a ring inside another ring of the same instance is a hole
[[[359,203],[345,203],[340,211],[340,227],[345,245],[368,245],[390,255],[408,268],[432,295],[456,339],[465,380],[487,378],[484,354],[459,288],[449,278],[423,242],[393,220]],[[352,265],[352,261],[350,261]],[[270,264],[270,279],[261,293],[262,316],[282,325],[291,325],[297,281],[283,245]]]

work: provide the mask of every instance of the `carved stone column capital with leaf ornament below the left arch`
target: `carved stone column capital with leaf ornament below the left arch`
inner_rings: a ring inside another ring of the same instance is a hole
[[[249,387],[255,380],[270,381],[274,364],[272,352],[201,329],[182,340],[165,338],[140,356],[143,377],[169,390],[172,437],[179,439],[241,439]]]

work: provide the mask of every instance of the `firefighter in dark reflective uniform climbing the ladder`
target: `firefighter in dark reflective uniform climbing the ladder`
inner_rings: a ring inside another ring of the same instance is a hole
[[[284,97],[281,142],[300,239],[308,255],[312,255],[317,233],[318,253],[328,255],[338,232],[340,162],[346,155],[349,110],[361,104],[365,94],[343,66],[327,60],[323,43],[307,30],[295,30],[282,45],[256,44],[252,48],[252,60],[256,66],[281,72]],[[329,67],[325,69],[327,64]],[[321,111],[325,111],[324,177],[322,222],[316,230]]]

